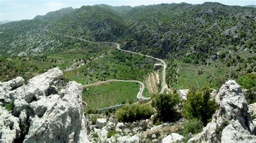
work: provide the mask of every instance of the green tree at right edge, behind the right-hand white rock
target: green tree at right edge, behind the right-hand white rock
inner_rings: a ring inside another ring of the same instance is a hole
[[[246,98],[248,99],[248,103],[255,102],[255,90],[256,90],[256,74],[250,73],[241,76],[238,79],[238,83],[242,88],[247,89]]]

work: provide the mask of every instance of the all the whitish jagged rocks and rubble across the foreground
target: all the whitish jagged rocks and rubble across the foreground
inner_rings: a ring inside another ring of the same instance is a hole
[[[85,118],[83,113],[82,86],[73,81],[64,88],[57,86],[62,75],[53,68],[27,84],[22,77],[0,83],[1,142],[184,141],[176,133],[183,130],[182,120],[156,126],[151,119],[120,123],[112,116],[97,115],[101,117],[93,124],[95,115]],[[255,104],[248,106],[240,85],[227,81],[215,101],[219,108],[212,121],[188,142],[255,142],[256,120],[251,117]]]

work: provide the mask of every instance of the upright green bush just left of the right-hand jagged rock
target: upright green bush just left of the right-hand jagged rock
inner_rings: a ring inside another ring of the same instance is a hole
[[[197,118],[207,124],[208,119],[212,118],[217,109],[215,100],[210,99],[211,89],[204,87],[200,90],[192,87],[188,91],[187,101],[184,104],[184,115],[187,119]]]

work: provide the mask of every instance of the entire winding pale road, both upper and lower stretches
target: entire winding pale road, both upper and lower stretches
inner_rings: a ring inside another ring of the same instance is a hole
[[[78,39],[78,40],[82,40],[82,41],[85,41],[85,42],[95,42],[95,43],[98,43],[98,41],[89,41],[89,40],[84,40],[84,39],[81,39],[81,38],[77,38],[77,37],[71,37],[69,35],[64,35],[64,37],[68,37],[68,38],[73,38],[73,39]],[[120,51],[124,51],[124,52],[127,52],[127,53],[132,53],[132,54],[138,54],[138,55],[142,55],[142,56],[146,56],[148,58],[152,58],[152,59],[156,59],[158,61],[160,61],[162,64],[163,64],[163,75],[162,75],[162,81],[161,81],[161,90],[160,90],[160,94],[163,94],[164,93],[164,90],[165,89],[168,89],[168,86],[165,82],[165,77],[166,77],[166,63],[164,60],[161,60],[161,59],[158,59],[158,58],[154,58],[153,56],[150,56],[150,55],[144,55],[144,54],[140,54],[140,53],[136,53],[136,52],[132,52],[132,51],[126,51],[124,49],[121,49],[120,48],[120,45],[116,42],[100,42],[100,43],[106,43],[106,44],[114,44],[114,45],[117,45],[117,49],[119,49]],[[143,96],[143,91],[145,89],[145,84],[143,82],[140,82],[140,81],[134,81],[134,80],[107,80],[107,81],[101,81],[101,82],[97,82],[97,83],[92,83],[92,84],[87,84],[87,85],[83,85],[83,87],[89,87],[91,85],[97,85],[97,84],[102,84],[102,83],[106,83],[106,82],[113,82],[113,81],[121,81],[121,82],[137,82],[140,84],[140,89],[139,89],[139,92],[137,94],[137,98],[139,99],[150,99],[150,97],[144,97]]]

